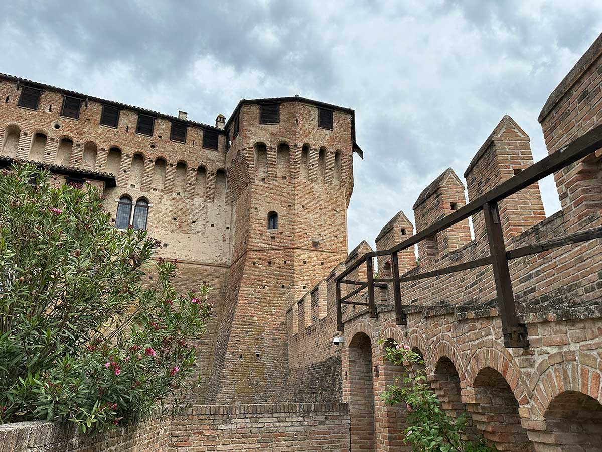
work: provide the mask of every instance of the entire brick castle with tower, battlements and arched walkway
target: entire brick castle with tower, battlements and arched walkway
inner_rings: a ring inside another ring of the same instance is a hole
[[[214,287],[193,409],[98,450],[410,450],[405,407],[380,400],[398,372],[383,359],[380,340],[391,339],[424,357],[442,407],[468,412],[470,428],[498,450],[602,450],[599,235],[509,261],[527,347],[504,342],[490,267],[403,282],[403,319],[393,284],[377,285],[374,312],[358,291],[358,304],[342,307],[336,345],[337,276],[372,251],[362,242],[347,253],[353,153],[362,155],[353,110],[299,96],[243,100],[211,126],[8,75],[0,93],[0,162],[34,160],[61,181],[92,181],[116,227],[146,228],[161,257],[178,259],[179,289]],[[602,124],[601,110],[602,35],[539,116],[550,154]],[[562,210],[548,218],[536,183],[503,199],[507,250],[602,226],[601,157],[555,173]],[[466,169],[467,187],[450,168],[420,194],[416,230],[465,206],[465,190],[473,201],[532,163],[529,136],[504,116]],[[411,276],[483,259],[483,213],[473,226],[474,238],[466,219],[421,240],[420,267],[413,248],[393,266],[379,256],[379,278],[396,266]],[[412,234],[399,212],[377,251]],[[366,272],[364,264],[346,278]],[[0,435],[29,427],[19,428]]]

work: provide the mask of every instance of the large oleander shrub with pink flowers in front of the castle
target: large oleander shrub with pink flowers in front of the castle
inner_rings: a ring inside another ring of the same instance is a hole
[[[85,432],[183,406],[209,288],[178,295],[177,263],[151,265],[158,246],[114,228],[91,185],[60,186],[36,166],[2,172],[0,422]]]

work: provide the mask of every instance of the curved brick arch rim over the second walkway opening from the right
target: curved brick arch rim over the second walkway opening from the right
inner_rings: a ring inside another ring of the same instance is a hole
[[[492,368],[504,377],[521,406],[529,403],[532,392],[514,357],[503,345],[491,340],[476,342],[469,351],[465,362],[467,363],[465,368],[467,388],[473,388],[474,380],[482,369]]]

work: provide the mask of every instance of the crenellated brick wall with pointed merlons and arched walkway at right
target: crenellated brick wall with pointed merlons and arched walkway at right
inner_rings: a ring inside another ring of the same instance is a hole
[[[602,35],[544,107],[539,119],[550,152],[601,124],[601,54]],[[500,202],[507,250],[602,225],[598,154],[556,174],[563,209],[548,218],[537,184]],[[504,116],[464,174],[468,200],[532,163],[529,136]],[[414,205],[417,230],[464,204],[464,186],[447,169]],[[421,242],[420,266],[413,262],[414,250],[404,251],[400,271],[414,275],[488,256],[482,214],[474,216],[473,224],[473,240],[462,222]],[[377,249],[411,233],[411,223],[399,212],[377,236]],[[467,412],[468,431],[480,433],[497,450],[602,450],[602,240],[510,260],[519,321],[529,334],[524,349],[503,345],[489,266],[402,283],[408,325],[397,324],[391,284],[376,288],[377,318],[365,307],[343,306],[344,344],[335,347],[332,337],[341,333],[335,324],[334,278],[367,251],[368,244],[360,243],[320,283],[326,284],[325,318],[311,314],[309,294],[292,303],[287,313],[290,375],[324,368],[340,356],[342,387],[331,383],[330,392],[314,394],[326,398],[336,392],[349,403],[351,451],[411,450],[403,444],[405,407],[387,407],[380,400],[399,376],[399,369],[383,359],[389,340],[409,344],[424,357],[429,384],[442,408],[454,416]],[[379,257],[380,277],[389,277],[389,259]],[[365,278],[365,265],[346,277]],[[354,288],[343,285],[341,293]],[[364,292],[354,301],[365,299]],[[320,388],[302,378],[295,381],[306,393]]]

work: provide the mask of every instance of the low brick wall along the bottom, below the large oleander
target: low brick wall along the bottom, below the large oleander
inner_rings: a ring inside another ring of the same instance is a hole
[[[84,436],[52,422],[0,425],[0,452],[349,451],[342,403],[195,406],[186,413]]]

